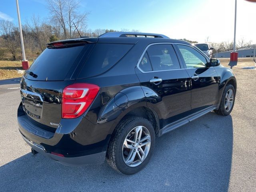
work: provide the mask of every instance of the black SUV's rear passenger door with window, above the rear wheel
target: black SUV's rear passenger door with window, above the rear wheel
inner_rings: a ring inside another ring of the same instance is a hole
[[[172,44],[147,46],[136,68],[147,105],[158,112],[162,127],[171,117],[191,109],[189,76],[180,65]]]

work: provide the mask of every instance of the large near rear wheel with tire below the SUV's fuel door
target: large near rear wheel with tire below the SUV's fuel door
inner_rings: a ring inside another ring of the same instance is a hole
[[[108,164],[123,174],[135,174],[148,164],[155,143],[154,127],[145,118],[122,120],[112,134],[107,150]]]

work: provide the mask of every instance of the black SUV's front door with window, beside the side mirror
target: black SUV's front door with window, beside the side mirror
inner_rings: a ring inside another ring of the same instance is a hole
[[[191,108],[204,109],[216,105],[219,96],[219,77],[209,60],[189,45],[177,44],[177,49],[191,81]]]

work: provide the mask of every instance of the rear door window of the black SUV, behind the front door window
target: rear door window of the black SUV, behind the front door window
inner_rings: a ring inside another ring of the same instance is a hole
[[[145,72],[162,71],[180,69],[180,64],[171,44],[157,44],[147,49],[139,67]]]

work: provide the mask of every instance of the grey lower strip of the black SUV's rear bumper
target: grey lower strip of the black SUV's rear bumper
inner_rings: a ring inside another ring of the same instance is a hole
[[[22,135],[22,134],[21,134]],[[82,166],[82,165],[87,165],[87,164],[102,164],[104,163],[105,156],[106,156],[106,151],[96,153],[96,154],[91,154],[91,155],[86,155],[86,156],[80,156],[80,157],[61,157],[58,155],[54,155],[51,153],[47,153],[45,148],[42,145],[38,145],[26,138],[25,136],[22,135],[22,138],[26,143],[36,150],[38,153],[51,158],[54,161],[57,161],[63,165],[66,166]]]

